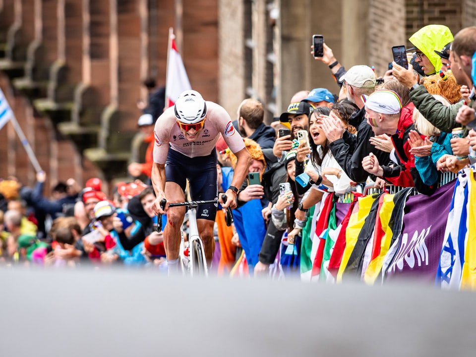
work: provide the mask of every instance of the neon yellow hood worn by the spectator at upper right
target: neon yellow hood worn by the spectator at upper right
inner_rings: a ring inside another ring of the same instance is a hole
[[[453,41],[453,34],[444,25],[427,25],[410,36],[409,41],[428,57],[438,72],[441,68],[441,58],[434,50],[441,51],[445,45]]]

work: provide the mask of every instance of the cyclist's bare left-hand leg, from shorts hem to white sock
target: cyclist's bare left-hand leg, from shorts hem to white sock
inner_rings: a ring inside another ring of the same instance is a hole
[[[167,181],[165,183],[165,195],[169,203],[183,202],[185,194],[182,188],[175,182]],[[164,229],[164,248],[167,254],[167,260],[179,258],[180,247],[180,227],[185,216],[185,207],[173,207],[167,211],[167,225]]]

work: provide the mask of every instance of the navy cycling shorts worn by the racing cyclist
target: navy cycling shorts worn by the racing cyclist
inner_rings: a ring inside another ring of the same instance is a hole
[[[207,156],[190,158],[169,149],[165,162],[166,181],[177,183],[185,192],[186,179],[193,201],[207,201],[217,198],[217,152]],[[197,207],[197,219],[215,221],[217,205],[215,203],[201,204]]]

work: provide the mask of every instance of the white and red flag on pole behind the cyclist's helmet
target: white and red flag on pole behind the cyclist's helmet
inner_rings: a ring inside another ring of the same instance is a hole
[[[166,107],[172,107],[180,93],[190,89],[192,87],[175,44],[175,36],[171,31],[169,35],[169,55],[167,57]]]

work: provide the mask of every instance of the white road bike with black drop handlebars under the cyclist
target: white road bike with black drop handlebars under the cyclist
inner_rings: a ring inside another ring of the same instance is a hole
[[[223,203],[227,201],[227,196],[222,195]],[[199,204],[205,203],[215,203],[218,204],[218,200],[208,200],[208,201],[187,201],[187,202],[177,202],[169,203],[169,207],[179,207],[185,206],[188,208],[188,264],[186,270],[191,276],[194,275],[208,275],[207,261],[205,259],[205,249],[203,247],[203,241],[200,238],[197,227],[197,207]],[[162,209],[165,209],[167,200],[164,198],[160,201],[160,206]],[[227,208],[227,214],[225,216],[225,221],[228,227],[233,223],[233,214],[230,207]],[[162,216],[159,215],[157,218],[157,231],[162,230]],[[182,261],[182,259],[180,259]]]

